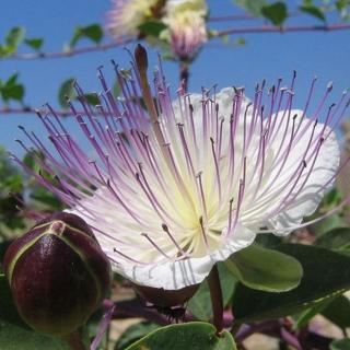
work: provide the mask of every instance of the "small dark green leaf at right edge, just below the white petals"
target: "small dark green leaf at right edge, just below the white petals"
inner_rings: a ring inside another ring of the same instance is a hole
[[[334,250],[349,250],[350,249],[350,229],[338,228],[334,229],[322,236],[319,236],[315,243],[320,247],[334,249]]]

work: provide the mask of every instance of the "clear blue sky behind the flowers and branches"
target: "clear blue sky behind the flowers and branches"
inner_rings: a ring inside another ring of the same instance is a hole
[[[290,1],[295,5],[295,1]],[[231,0],[209,1],[212,15],[237,13]],[[109,8],[109,0],[3,0],[0,12],[0,37],[15,25],[26,27],[28,37],[44,37],[46,51],[60,50],[68,43],[75,25],[103,23],[104,13]],[[307,16],[298,18],[291,23],[319,24]],[[254,23],[231,22],[225,27],[254,25]],[[350,86],[350,31],[332,33],[291,33],[291,34],[255,34],[245,35],[247,45],[237,48],[213,46],[209,44],[191,67],[190,91],[200,86],[218,83],[244,85],[248,91],[257,81],[267,79],[273,83],[277,78],[291,77],[298,71],[296,102],[302,106],[311,79],[318,79],[318,95],[324,92],[328,81],[335,82],[334,98]],[[89,43],[82,42],[81,45]],[[21,49],[25,51],[25,47]],[[152,56],[152,49],[150,55]],[[155,55],[153,55],[155,56]],[[88,91],[98,91],[96,67],[105,65],[106,74],[109,60],[115,59],[127,66],[128,56],[122,49],[94,52],[74,58],[36,60],[36,61],[0,61],[0,78],[7,79],[13,72],[20,73],[20,80],[26,86],[25,101],[32,106],[40,106],[50,102],[57,106],[57,92],[60,83],[77,78]],[[178,84],[178,68],[175,63],[165,63],[166,77],[174,86]],[[110,75],[112,77],[112,75]],[[72,125],[73,120],[65,122]],[[0,116],[0,144],[19,152],[13,141],[19,138],[19,124],[30,129],[40,130],[35,116],[9,115]],[[72,128],[74,128],[72,126]],[[74,129],[73,129],[74,130]]]

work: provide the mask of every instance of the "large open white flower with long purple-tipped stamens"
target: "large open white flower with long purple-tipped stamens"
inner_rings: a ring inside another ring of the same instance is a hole
[[[120,98],[101,70],[96,108],[75,84],[85,116],[71,109],[95,154],[49,106],[39,116],[55,152],[22,128],[46,155],[37,159],[43,171],[59,176],[34,175],[91,225],[116,271],[140,285],[178,290],[200,283],[257,233],[283,235],[307,224],[303,217],[342,168],[334,130],[346,94],[324,108],[329,85],[310,110],[313,80],[304,109],[294,109],[294,75],[289,88],[281,79],[268,91],[258,84],[252,102],[243,88],[178,91],[172,102],[162,67],[151,94],[140,46],[136,57],[128,74],[115,67]]]

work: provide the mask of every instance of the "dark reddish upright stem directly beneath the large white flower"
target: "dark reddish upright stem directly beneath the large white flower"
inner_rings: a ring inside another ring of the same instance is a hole
[[[217,265],[213,266],[209,273],[208,284],[211,296],[211,305],[214,314],[213,324],[217,327],[217,335],[220,335],[223,329],[223,302]]]

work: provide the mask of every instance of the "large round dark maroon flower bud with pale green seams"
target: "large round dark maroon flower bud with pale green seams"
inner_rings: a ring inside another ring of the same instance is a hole
[[[65,336],[106,296],[110,264],[79,217],[59,212],[14,241],[4,270],[20,315],[35,330]]]

